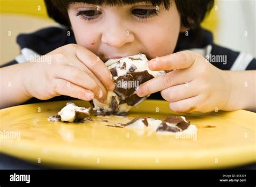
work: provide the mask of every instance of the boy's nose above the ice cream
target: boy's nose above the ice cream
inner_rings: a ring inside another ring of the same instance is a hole
[[[134,35],[131,31],[126,30],[124,25],[112,24],[104,27],[102,33],[102,42],[114,48],[121,48],[127,43],[133,42]]]

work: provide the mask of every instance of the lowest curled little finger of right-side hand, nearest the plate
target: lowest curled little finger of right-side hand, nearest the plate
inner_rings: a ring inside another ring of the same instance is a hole
[[[177,102],[170,102],[170,109],[175,112],[193,112],[197,111],[200,104],[200,96],[191,97],[188,99],[179,100]]]

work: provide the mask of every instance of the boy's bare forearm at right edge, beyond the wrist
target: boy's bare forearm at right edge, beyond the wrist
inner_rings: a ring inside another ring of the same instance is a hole
[[[256,71],[224,71],[224,73],[227,73],[230,78],[231,91],[230,97],[222,110],[233,111],[245,109],[255,112]]]

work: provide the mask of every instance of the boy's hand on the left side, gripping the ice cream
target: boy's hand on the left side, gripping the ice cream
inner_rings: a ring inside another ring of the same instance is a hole
[[[114,90],[114,83],[98,56],[82,46],[69,44],[32,62],[25,87],[31,97],[41,100],[65,95],[104,102],[107,90]]]

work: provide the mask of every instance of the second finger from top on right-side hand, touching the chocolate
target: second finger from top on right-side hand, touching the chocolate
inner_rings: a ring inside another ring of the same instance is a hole
[[[161,75],[156,78],[139,85],[139,89],[136,91],[140,97],[150,95],[161,90],[164,90],[174,85],[184,84],[190,82],[193,77],[188,73],[187,69],[178,69],[171,71],[165,75]]]

